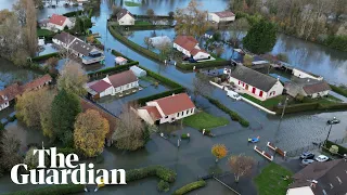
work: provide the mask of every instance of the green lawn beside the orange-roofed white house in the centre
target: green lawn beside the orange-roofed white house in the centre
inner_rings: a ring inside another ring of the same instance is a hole
[[[229,123],[229,120],[223,117],[216,117],[208,113],[201,112],[184,118],[183,123],[198,130],[226,126]]]

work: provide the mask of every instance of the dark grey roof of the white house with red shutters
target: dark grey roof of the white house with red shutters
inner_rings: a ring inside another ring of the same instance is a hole
[[[261,74],[243,65],[237,65],[231,72],[230,77],[256,87],[265,92],[268,92],[278,81],[278,79],[273,77]]]

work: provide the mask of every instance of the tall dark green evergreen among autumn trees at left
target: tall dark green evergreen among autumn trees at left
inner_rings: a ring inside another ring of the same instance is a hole
[[[55,139],[62,141],[65,146],[70,146],[74,141],[74,123],[81,112],[78,96],[61,90],[53,100],[51,112]]]

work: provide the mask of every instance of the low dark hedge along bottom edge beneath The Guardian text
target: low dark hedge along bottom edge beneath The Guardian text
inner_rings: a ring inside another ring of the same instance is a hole
[[[83,185],[65,184],[65,185],[49,185],[39,188],[17,191],[9,193],[8,195],[64,195],[64,194],[76,194],[82,193]]]

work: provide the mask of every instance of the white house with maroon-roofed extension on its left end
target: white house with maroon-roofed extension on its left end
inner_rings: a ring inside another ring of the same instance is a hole
[[[116,75],[106,76],[101,80],[89,82],[86,89],[91,98],[100,99],[107,95],[116,95],[138,87],[138,77],[132,70],[126,70]]]

